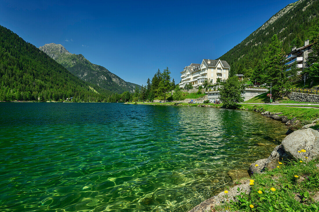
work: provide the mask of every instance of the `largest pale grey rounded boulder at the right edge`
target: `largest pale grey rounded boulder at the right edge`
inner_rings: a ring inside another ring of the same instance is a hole
[[[319,132],[311,128],[296,130],[284,138],[282,148],[295,159],[308,161],[315,159],[319,154]],[[306,152],[298,152],[302,149]]]

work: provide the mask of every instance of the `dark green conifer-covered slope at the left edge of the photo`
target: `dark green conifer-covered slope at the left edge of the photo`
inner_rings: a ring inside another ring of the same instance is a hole
[[[82,81],[67,69],[0,25],[0,101],[102,101],[110,92]],[[94,91],[95,89],[95,91]]]

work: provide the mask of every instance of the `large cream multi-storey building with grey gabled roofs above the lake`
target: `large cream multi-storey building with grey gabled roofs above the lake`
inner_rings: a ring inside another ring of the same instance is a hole
[[[201,64],[191,63],[186,66],[181,75],[179,86],[183,88],[186,84],[191,83],[195,88],[202,85],[205,80],[210,80],[213,84],[218,79],[226,80],[228,78],[230,66],[225,60],[203,59]]]

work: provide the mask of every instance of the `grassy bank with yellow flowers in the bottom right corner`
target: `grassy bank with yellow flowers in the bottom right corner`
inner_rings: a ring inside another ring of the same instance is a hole
[[[300,157],[302,158],[302,156]],[[253,175],[249,194],[241,193],[231,201],[216,207],[217,211],[319,211],[318,160],[308,163],[290,161],[263,174]],[[271,188],[273,190],[271,190]],[[276,189],[276,190],[274,190]],[[259,191],[259,193],[258,193]],[[261,193],[261,194],[260,194]],[[251,206],[251,207],[250,207]]]

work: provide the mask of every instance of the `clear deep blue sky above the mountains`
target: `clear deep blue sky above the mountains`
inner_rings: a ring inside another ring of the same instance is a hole
[[[294,1],[0,0],[0,25],[39,47],[62,44],[125,81],[216,59]]]

